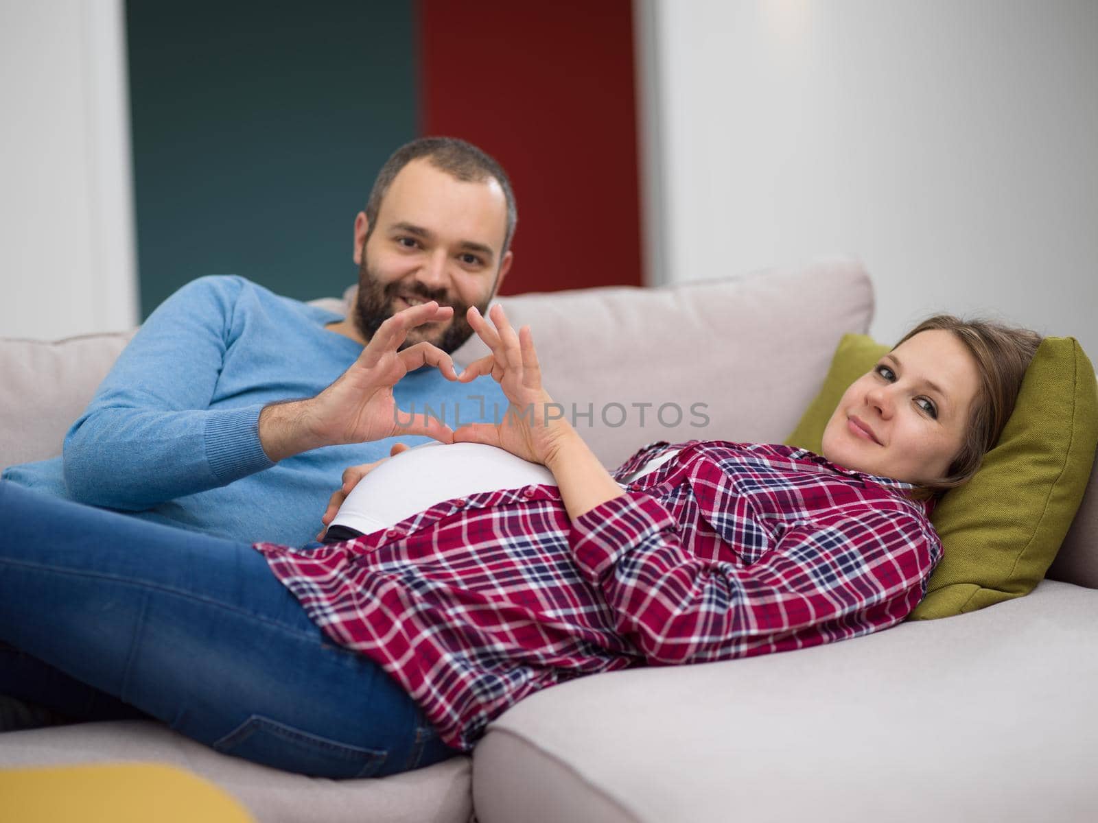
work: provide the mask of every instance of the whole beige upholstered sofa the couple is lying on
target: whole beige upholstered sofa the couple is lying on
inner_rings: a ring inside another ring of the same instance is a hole
[[[554,398],[581,414],[591,404],[579,422],[607,464],[661,439],[781,441],[839,337],[873,313],[867,275],[844,260],[501,302],[531,325]],[[0,341],[0,467],[59,453],[127,339]],[[479,353],[471,341],[457,359]],[[682,420],[664,425],[675,407]],[[141,721],[3,734],[0,767],[173,763],[261,821],[1096,820],[1090,486],[1028,597],[794,653],[575,680],[513,707],[472,757],[419,771],[306,778]]]

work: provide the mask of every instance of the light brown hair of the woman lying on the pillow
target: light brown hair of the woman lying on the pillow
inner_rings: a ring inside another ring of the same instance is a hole
[[[984,454],[998,442],[1002,427],[1015,409],[1026,369],[1041,345],[1041,336],[994,320],[962,320],[953,315],[940,314],[920,323],[896,346],[922,331],[932,330],[949,331],[964,343],[979,373],[979,390],[973,401],[968,431],[961,451],[950,463],[944,477],[925,484],[930,492],[941,493],[970,480],[979,469]]]

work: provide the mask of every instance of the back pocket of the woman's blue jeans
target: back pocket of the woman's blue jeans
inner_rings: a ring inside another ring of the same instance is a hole
[[[253,714],[213,747],[284,771],[336,779],[373,777],[389,756],[384,749],[339,743],[260,714]]]

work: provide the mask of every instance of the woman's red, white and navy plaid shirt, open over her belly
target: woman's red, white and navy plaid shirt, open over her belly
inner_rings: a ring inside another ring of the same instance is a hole
[[[854,638],[903,620],[941,544],[910,485],[785,446],[682,451],[574,522],[553,486],[440,503],[330,545],[257,543],[337,643],[469,749],[535,691],[638,665]]]

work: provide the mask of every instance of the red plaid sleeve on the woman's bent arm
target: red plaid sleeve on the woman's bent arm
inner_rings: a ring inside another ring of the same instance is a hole
[[[750,565],[694,556],[657,500],[625,495],[574,521],[576,563],[652,665],[786,651],[884,629],[919,602],[937,537],[864,508],[794,525]]]

